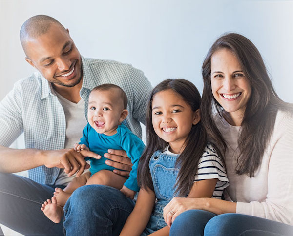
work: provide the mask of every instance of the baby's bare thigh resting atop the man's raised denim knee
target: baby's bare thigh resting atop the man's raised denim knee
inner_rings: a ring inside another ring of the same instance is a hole
[[[126,177],[115,174],[112,171],[100,170],[97,173],[93,174],[88,180],[86,185],[91,184],[101,184],[111,186],[116,189],[121,189]]]

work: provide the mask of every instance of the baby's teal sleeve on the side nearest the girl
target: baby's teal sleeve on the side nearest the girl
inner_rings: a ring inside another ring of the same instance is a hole
[[[123,150],[126,151],[127,156],[131,159],[131,162],[133,164],[132,170],[129,174],[129,178],[126,180],[124,185],[127,188],[138,192],[139,187],[137,184],[137,167],[139,158],[141,157],[145,149],[145,145],[140,138],[138,138],[136,135],[130,132],[127,132],[122,137],[121,145]]]

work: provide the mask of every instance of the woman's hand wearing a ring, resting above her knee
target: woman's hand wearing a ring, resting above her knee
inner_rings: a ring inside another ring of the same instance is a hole
[[[206,198],[174,197],[163,210],[164,220],[169,227],[177,216],[192,209],[204,209]]]

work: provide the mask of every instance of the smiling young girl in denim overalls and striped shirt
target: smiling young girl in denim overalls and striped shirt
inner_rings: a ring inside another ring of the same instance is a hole
[[[167,79],[153,89],[147,146],[138,166],[141,189],[121,236],[168,235],[163,209],[173,197],[222,197],[229,182],[221,158],[207,143],[200,104],[198,90],[185,79]]]

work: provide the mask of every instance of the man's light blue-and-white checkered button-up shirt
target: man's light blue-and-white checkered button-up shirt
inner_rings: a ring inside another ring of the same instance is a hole
[[[84,114],[87,117],[88,96],[94,87],[104,83],[120,86],[127,95],[129,115],[124,124],[141,137],[139,122],[145,123],[146,103],[151,91],[143,72],[116,61],[85,59],[83,86]],[[26,148],[63,149],[66,120],[51,83],[35,72],[19,80],[0,103],[0,145],[10,146],[24,132]],[[54,184],[60,169],[40,166],[29,170],[29,177],[39,183]]]

